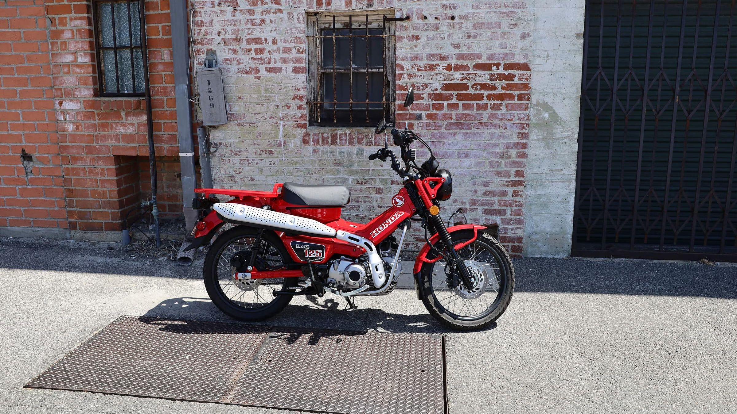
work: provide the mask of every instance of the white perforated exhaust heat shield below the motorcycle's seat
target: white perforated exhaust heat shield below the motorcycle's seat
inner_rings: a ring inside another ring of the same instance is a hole
[[[212,206],[217,214],[228,220],[244,222],[251,225],[263,225],[270,228],[280,228],[285,231],[294,231],[301,234],[310,234],[322,237],[335,237],[335,228],[324,225],[317,220],[297,217],[292,214],[279,213],[278,211],[266,210],[244,206],[237,203],[215,203]]]

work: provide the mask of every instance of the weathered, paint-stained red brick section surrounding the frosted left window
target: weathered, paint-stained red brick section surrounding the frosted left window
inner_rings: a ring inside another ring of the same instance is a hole
[[[156,154],[172,158],[178,146],[169,1],[148,0],[145,9]],[[47,1],[46,13],[69,226],[119,231],[122,214],[150,194],[145,100],[98,97],[89,1]],[[181,211],[181,189],[167,182],[178,179],[162,173],[159,180],[162,213]]]

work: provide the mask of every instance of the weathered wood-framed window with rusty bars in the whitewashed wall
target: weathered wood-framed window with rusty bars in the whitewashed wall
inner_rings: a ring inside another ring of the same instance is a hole
[[[310,15],[308,110],[313,126],[394,122],[394,18]]]

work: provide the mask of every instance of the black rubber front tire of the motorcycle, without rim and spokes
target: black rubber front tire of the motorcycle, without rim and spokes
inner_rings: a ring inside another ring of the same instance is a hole
[[[458,243],[471,239],[472,234],[469,233],[461,231],[451,234],[453,244],[457,245]],[[439,262],[424,263],[420,270],[422,303],[425,304],[430,315],[433,315],[436,320],[439,320],[443,326],[457,331],[472,331],[491,326],[506,311],[514,293],[514,265],[512,265],[511,258],[506,249],[497,239],[481,231],[478,232],[478,237],[474,243],[485,245],[486,248],[489,248],[500,267],[499,276],[500,285],[503,285],[502,292],[497,294],[497,299],[492,304],[493,309],[490,311],[486,309],[488,312],[481,312],[478,317],[471,317],[469,320],[460,320],[457,318],[458,315],[454,317],[452,312],[441,304],[441,301],[436,297],[435,292],[433,292],[433,267]],[[436,248],[441,248],[441,243],[439,242],[435,246]],[[437,279],[435,280],[437,281]],[[461,300],[465,299],[461,298]]]

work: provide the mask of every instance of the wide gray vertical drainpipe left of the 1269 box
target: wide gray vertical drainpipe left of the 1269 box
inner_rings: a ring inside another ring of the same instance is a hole
[[[189,101],[189,33],[187,31],[188,1],[171,1],[172,55],[174,57],[174,87],[177,105],[177,137],[182,180],[182,204],[186,234],[197,221],[192,210],[195,197],[195,144],[192,138],[192,107]]]

